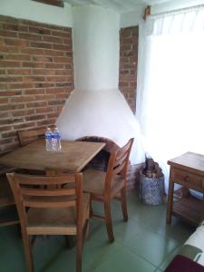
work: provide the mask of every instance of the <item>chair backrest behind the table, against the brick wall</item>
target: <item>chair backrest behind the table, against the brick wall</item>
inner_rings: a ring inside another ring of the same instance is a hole
[[[17,131],[20,146],[24,146],[39,138],[44,138],[46,129],[36,129],[32,131]]]

